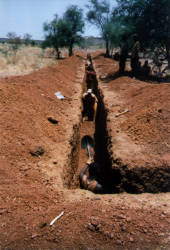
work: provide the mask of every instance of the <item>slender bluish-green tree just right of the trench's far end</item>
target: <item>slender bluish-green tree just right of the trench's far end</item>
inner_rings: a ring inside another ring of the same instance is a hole
[[[87,19],[90,23],[96,25],[100,30],[101,36],[106,44],[106,56],[109,56],[109,46],[112,37],[112,15],[110,5],[106,1],[89,0],[87,8]]]

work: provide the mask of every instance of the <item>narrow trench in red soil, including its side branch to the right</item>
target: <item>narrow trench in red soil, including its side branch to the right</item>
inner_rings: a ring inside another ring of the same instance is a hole
[[[94,70],[93,62],[92,67]],[[94,70],[95,72],[95,70]],[[159,193],[170,191],[170,168],[164,164],[157,168],[138,166],[131,169],[123,165],[120,160],[114,159],[111,152],[111,138],[107,129],[108,110],[104,105],[104,96],[98,88],[97,77],[93,82],[87,79],[87,73],[82,83],[82,92],[88,88],[98,99],[96,120],[84,121],[74,127],[72,152],[70,156],[70,170],[65,185],[68,189],[80,188],[79,174],[88,160],[86,150],[81,148],[81,138],[90,135],[94,140],[94,149],[91,149],[95,165],[97,166],[96,180],[104,188],[104,193]]]

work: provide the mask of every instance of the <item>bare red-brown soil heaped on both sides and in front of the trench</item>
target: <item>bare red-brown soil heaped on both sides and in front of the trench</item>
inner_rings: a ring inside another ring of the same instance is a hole
[[[95,195],[78,187],[87,160],[81,137],[88,133],[101,143],[100,126],[94,131],[94,124],[81,122],[85,56],[0,80],[0,249],[170,248],[169,193]],[[117,70],[103,57],[95,65],[99,75]],[[169,163],[169,84],[129,77],[100,84],[110,105],[103,117],[113,159],[126,165],[128,159],[132,168],[138,161]],[[141,159],[146,152],[150,158]]]

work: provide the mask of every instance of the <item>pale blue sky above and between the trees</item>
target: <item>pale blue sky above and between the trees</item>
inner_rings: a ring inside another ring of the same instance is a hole
[[[108,0],[113,6],[115,0]],[[87,11],[88,0],[0,0],[0,38],[8,32],[23,37],[29,33],[32,39],[43,39],[43,23],[50,22],[55,14],[62,16],[68,6],[78,5]],[[97,28],[86,22],[85,36],[100,36]]]

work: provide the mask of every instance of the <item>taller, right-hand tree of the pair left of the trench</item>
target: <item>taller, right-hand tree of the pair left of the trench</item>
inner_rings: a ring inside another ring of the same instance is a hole
[[[74,44],[79,45],[83,40],[81,36],[84,28],[82,9],[76,5],[70,6],[64,13],[63,24],[61,24],[60,28],[64,31],[63,38],[69,48],[69,56],[72,56]]]

